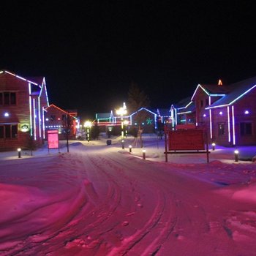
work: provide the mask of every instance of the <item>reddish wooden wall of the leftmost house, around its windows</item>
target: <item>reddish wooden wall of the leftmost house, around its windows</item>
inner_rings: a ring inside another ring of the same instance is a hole
[[[42,92],[40,98],[38,95],[31,96],[31,110],[29,105],[29,82],[27,80],[20,79],[7,72],[2,72],[0,74],[0,91],[16,93],[15,105],[0,105],[0,125],[18,125],[17,135],[12,138],[0,138],[0,150],[8,151],[16,148],[27,148],[31,146],[31,138],[33,138],[34,144],[42,144],[42,106],[47,105],[48,102],[45,91]],[[39,100],[40,102],[42,100],[43,104],[40,103],[38,105]],[[35,103],[35,108],[33,103]],[[5,117],[5,112],[10,113],[10,116]],[[36,124],[35,133],[34,116]],[[28,127],[28,131],[23,131],[22,128],[24,126]]]

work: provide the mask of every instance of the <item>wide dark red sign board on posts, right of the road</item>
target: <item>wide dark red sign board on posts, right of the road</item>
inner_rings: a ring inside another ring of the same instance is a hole
[[[169,131],[169,150],[204,150],[203,129]]]

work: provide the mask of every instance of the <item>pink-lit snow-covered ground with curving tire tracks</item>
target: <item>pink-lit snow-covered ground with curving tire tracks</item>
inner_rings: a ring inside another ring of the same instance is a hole
[[[0,153],[0,255],[256,255],[255,162],[106,140]]]

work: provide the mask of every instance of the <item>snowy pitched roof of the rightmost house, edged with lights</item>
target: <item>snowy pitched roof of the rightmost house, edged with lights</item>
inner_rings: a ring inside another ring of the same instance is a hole
[[[228,86],[229,93],[227,93],[222,98],[218,99],[214,102],[211,106],[206,109],[210,108],[219,108],[226,105],[232,105],[238,99],[244,96],[244,94],[248,93],[252,89],[256,87],[256,77],[248,78],[246,80],[241,80],[240,82],[230,84]]]

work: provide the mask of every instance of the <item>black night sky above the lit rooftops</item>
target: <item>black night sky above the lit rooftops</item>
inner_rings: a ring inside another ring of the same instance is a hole
[[[0,69],[45,76],[50,103],[83,118],[121,106],[132,81],[170,108],[198,83],[256,75],[251,1],[6,2]]]

